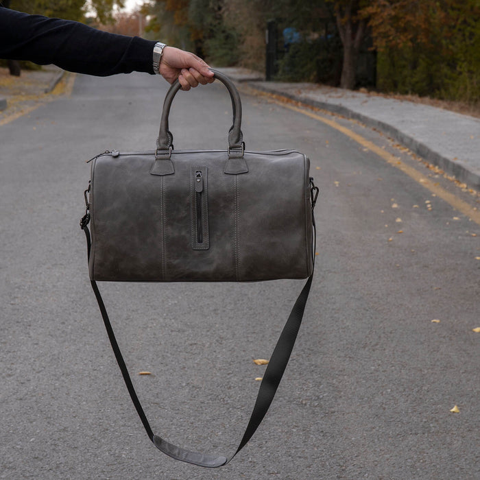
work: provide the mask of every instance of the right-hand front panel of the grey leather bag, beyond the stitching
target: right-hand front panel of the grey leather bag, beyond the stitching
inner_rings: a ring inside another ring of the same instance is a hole
[[[238,280],[306,278],[311,274],[309,162],[298,152],[245,153],[237,176]]]

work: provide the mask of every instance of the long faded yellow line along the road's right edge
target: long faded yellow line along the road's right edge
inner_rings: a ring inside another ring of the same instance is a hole
[[[442,200],[444,200],[445,202],[453,206],[453,208],[456,208],[459,212],[463,213],[469,219],[471,219],[472,221],[475,221],[476,224],[480,225],[480,211],[474,210],[474,208],[470,206],[468,203],[459,199],[459,197],[457,197],[453,193],[450,193],[445,189],[442,189],[442,187],[435,185],[435,183],[432,182],[430,178],[422,175],[422,173],[420,173],[418,170],[398,160],[398,158],[396,158],[392,154],[389,154],[378,145],[375,145],[371,141],[364,139],[363,136],[353,132],[349,128],[344,127],[343,125],[340,125],[335,120],[322,117],[321,115],[317,115],[316,113],[311,112],[306,108],[300,108],[300,107],[291,105],[292,100],[287,97],[281,97],[281,95],[272,95],[272,94],[265,93],[263,91],[258,91],[258,90],[256,90],[256,92],[258,92],[261,95],[265,95],[267,97],[272,98],[272,101],[274,101],[274,103],[280,106],[289,108],[290,110],[301,113],[302,115],[307,115],[307,117],[311,117],[315,120],[326,123],[326,125],[330,126],[331,128],[335,128],[335,130],[338,130],[339,132],[345,134],[346,136],[350,137],[350,139],[355,140],[357,143],[359,143],[363,147],[368,148],[369,150],[377,154],[379,157],[383,158],[383,160],[385,160],[390,165],[403,171],[403,173],[406,173],[410,178],[413,178],[413,180],[420,183],[422,187],[429,189],[431,192],[435,193],[437,197],[442,198]]]

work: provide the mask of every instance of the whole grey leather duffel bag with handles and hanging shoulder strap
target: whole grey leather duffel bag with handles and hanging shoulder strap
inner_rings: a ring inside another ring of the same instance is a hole
[[[217,71],[215,78],[226,86],[232,99],[228,149],[173,148],[168,120],[173,97],[180,89],[177,81],[165,97],[156,150],[114,150],[92,159],[91,181],[85,191],[86,215],[80,222],[88,242],[92,287],[123,379],[150,440],[173,458],[208,467],[224,465],[232,457],[186,451],[152,433],[96,280],[308,278],[269,361],[238,452],[265,416],[300,328],[313,274],[313,206],[318,189],[309,176],[310,162],[304,154],[288,149],[245,150],[237,88]]]

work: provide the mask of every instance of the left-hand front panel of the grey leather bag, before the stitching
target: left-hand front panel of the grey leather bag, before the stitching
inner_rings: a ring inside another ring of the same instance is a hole
[[[101,156],[92,176],[91,278],[163,280],[163,177],[153,155]]]

